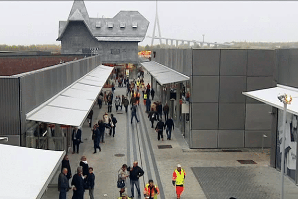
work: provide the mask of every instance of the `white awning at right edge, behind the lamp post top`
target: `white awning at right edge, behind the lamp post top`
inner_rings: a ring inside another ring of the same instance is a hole
[[[293,100],[291,104],[287,106],[287,112],[298,115],[298,89],[296,88],[277,85],[277,87],[274,88],[242,92],[242,94],[280,109],[284,108],[284,103],[281,102],[277,96],[279,94],[290,95]]]

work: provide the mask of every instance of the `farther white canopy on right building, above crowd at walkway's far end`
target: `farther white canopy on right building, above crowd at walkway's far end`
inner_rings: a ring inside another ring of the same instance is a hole
[[[170,83],[184,82],[190,79],[188,76],[154,61],[142,62],[141,64],[161,86]]]

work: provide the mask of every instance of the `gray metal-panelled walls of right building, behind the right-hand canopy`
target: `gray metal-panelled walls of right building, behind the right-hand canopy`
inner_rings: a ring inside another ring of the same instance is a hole
[[[260,148],[263,134],[270,147],[271,106],[242,92],[276,86],[275,50],[154,51],[154,61],[191,75],[190,148]]]

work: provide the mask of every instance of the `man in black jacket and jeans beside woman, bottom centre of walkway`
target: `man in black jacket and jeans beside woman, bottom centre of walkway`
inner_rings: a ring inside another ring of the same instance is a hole
[[[132,196],[130,198],[134,198],[135,196],[134,185],[136,186],[138,197],[141,198],[139,178],[144,175],[143,169],[141,169],[141,167],[138,166],[138,161],[135,161],[133,167],[128,167],[127,171],[129,171],[129,179],[132,193]]]

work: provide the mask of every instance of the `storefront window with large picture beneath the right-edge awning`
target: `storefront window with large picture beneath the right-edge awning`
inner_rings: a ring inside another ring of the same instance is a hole
[[[277,144],[276,144],[276,167],[281,169],[281,133],[283,129],[283,110],[278,110],[277,122]],[[285,168],[286,173],[293,180],[296,180],[296,159],[297,159],[297,115],[287,113],[286,119],[286,142],[285,142]]]

